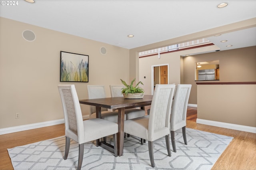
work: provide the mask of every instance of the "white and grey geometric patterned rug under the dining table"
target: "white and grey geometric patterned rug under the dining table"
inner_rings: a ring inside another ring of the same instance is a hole
[[[154,141],[155,167],[150,166],[148,142],[141,145],[132,135],[124,139],[123,156],[96,147],[95,142],[84,145],[83,170],[210,170],[232,137],[186,128],[188,145],[184,144],[182,130],[175,132],[176,150],[169,157],[165,138]],[[110,138],[111,142],[111,138]],[[170,142],[172,151],[172,144]],[[14,170],[75,170],[78,163],[78,144],[71,140],[68,159],[64,160],[65,137],[17,146],[8,149]]]

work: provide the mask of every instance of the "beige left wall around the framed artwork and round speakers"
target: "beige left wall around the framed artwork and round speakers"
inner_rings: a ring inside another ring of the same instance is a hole
[[[36,40],[24,40],[24,30]],[[60,83],[60,51],[89,55],[88,83]],[[105,85],[110,96],[110,84],[129,80],[129,67],[128,49],[0,18],[0,128],[63,119],[58,84],[75,84],[79,99],[88,97],[86,85]]]

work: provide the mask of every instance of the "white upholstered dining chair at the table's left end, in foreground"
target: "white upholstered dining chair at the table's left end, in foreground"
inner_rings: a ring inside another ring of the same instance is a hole
[[[68,158],[70,139],[72,139],[79,144],[77,169],[80,170],[84,156],[84,143],[112,134],[114,138],[114,156],[117,156],[118,125],[98,118],[83,121],[75,85],[58,85],[58,90],[65,120],[66,146],[64,160]]]

